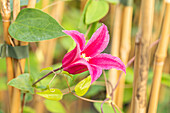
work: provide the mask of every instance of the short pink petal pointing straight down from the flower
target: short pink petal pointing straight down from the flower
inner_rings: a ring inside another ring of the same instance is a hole
[[[91,69],[90,71],[90,75],[91,75],[91,84],[96,81],[102,74],[102,68],[95,66],[95,65],[90,65]]]

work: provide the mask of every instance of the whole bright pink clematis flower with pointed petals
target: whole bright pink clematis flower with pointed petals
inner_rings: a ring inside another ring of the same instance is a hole
[[[102,25],[92,35],[85,45],[84,34],[75,30],[64,30],[76,42],[76,47],[68,52],[62,61],[62,68],[70,74],[78,74],[89,70],[92,81],[96,81],[102,74],[102,69],[115,68],[126,73],[123,62],[110,54],[101,53],[109,43],[109,34],[106,25]]]

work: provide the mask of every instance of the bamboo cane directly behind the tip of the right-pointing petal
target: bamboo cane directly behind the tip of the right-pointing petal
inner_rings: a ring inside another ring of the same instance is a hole
[[[120,46],[120,58],[126,65],[129,58],[129,53],[131,49],[131,27],[132,27],[132,6],[125,6],[123,9],[123,23],[122,23],[122,37]],[[125,86],[125,74],[122,75],[120,83],[118,85],[118,94],[116,97],[116,105],[120,108],[123,107],[123,95]]]

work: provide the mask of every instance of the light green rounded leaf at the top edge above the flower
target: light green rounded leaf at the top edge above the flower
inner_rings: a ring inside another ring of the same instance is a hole
[[[86,12],[86,24],[102,19],[109,11],[109,4],[106,1],[98,0],[92,1],[87,8]]]

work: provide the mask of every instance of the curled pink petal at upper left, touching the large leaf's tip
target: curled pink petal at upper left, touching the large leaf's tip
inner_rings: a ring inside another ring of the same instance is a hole
[[[79,33],[78,31],[75,31],[75,30],[70,30],[70,31],[63,30],[63,32],[71,36],[73,40],[76,42],[76,44],[79,45],[80,49],[83,50],[85,43],[86,43],[84,34]]]

